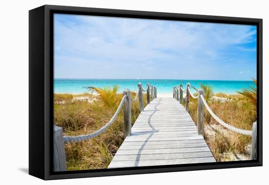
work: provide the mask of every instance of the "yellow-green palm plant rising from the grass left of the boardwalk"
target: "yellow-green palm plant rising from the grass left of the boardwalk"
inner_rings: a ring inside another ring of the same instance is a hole
[[[118,101],[117,91],[118,86],[114,85],[111,87],[96,88],[96,87],[87,87],[91,92],[95,92],[98,95],[98,98],[103,102],[105,106],[113,107]]]

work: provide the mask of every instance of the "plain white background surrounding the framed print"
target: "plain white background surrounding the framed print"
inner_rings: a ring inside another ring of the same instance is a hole
[[[1,1],[0,11],[0,184],[143,185],[256,184],[268,180],[269,98],[264,95],[264,166],[191,172],[42,181],[28,169],[28,10],[44,4],[234,16],[263,19],[264,91],[267,80],[269,13],[266,0],[27,0]],[[268,93],[267,93],[268,94]],[[267,171],[267,172],[266,172]],[[265,183],[262,183],[265,184]]]

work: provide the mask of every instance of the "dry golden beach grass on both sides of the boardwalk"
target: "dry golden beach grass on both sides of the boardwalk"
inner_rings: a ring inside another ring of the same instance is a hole
[[[208,87],[207,87],[208,88]],[[97,94],[54,94],[54,125],[63,128],[64,135],[78,136],[93,133],[104,126],[114,115],[122,94],[114,93],[114,103],[107,98],[100,98]],[[134,99],[136,93],[131,92]],[[213,94],[209,95],[210,97]],[[237,128],[252,130],[256,121],[256,110],[250,101],[241,94],[217,93],[214,96],[227,98],[228,101],[209,101],[212,111],[224,122]],[[146,106],[146,94],[143,94]],[[185,106],[185,103],[183,104]],[[197,99],[190,97],[189,113],[197,123]],[[138,101],[132,103],[132,124],[139,116]],[[234,133],[221,126],[204,108],[204,139],[218,162],[234,161],[243,155],[249,159],[250,136]],[[82,142],[67,143],[67,170],[104,169],[112,161],[113,156],[124,140],[123,113],[104,133],[96,138]]]

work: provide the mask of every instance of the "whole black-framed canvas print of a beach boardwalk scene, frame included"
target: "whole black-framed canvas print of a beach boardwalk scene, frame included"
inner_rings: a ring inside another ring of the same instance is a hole
[[[262,20],[29,11],[29,174],[262,165]]]

